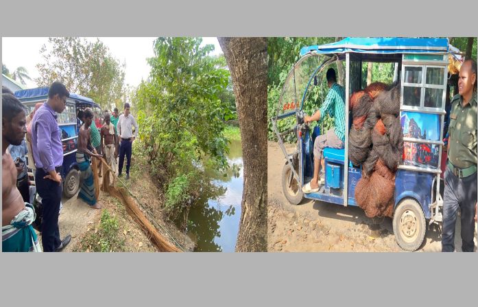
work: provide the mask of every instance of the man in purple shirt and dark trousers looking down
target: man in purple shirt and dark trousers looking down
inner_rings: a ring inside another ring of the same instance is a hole
[[[60,82],[53,82],[48,90],[48,99],[36,111],[32,119],[32,151],[36,166],[36,190],[42,198],[42,244],[43,251],[61,251],[71,240],[60,240],[58,214],[62,199],[63,146],[57,113],[67,106],[69,91]]]

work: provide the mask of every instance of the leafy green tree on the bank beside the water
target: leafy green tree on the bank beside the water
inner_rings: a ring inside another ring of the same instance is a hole
[[[227,168],[224,122],[231,116],[219,99],[226,89],[229,71],[208,54],[213,45],[201,47],[202,38],[157,38],[150,80],[134,95],[140,139],[144,152],[166,194],[173,213],[192,203],[200,191],[204,157],[216,168]],[[171,196],[171,197],[168,197]]]

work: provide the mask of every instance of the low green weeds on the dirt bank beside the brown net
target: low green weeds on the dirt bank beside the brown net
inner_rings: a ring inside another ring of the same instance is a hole
[[[91,231],[82,240],[80,250],[89,251],[125,251],[124,240],[119,238],[119,225],[115,216],[110,216],[108,210],[101,213],[99,227]]]

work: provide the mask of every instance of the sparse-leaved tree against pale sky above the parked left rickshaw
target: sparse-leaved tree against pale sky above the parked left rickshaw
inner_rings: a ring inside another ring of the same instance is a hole
[[[39,86],[62,82],[71,93],[91,98],[102,108],[121,104],[124,91],[124,63],[97,40],[84,38],[51,37],[40,49],[43,62],[36,68]]]

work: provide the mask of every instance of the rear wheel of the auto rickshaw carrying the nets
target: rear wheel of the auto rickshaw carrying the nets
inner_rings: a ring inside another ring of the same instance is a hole
[[[398,203],[392,224],[395,240],[402,249],[416,251],[422,245],[427,232],[425,214],[413,198]]]

